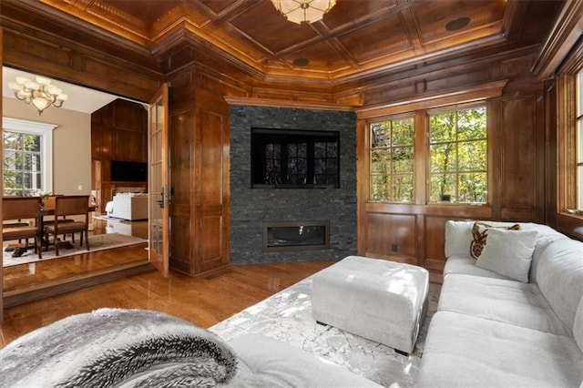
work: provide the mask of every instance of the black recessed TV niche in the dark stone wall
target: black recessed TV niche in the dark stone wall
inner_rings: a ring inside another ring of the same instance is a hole
[[[251,128],[253,189],[338,189],[340,132]]]

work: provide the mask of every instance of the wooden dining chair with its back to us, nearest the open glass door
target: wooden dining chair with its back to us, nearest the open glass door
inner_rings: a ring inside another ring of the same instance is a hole
[[[53,222],[45,226],[46,231],[46,245],[50,236],[53,235],[53,242],[55,244],[55,253],[58,256],[58,240],[59,234],[80,233],[79,246],[83,245],[83,238],[85,237],[85,245],[89,250],[89,196],[88,195],[61,195],[55,197],[55,220],[63,216],[79,216],[79,219],[73,222]]]

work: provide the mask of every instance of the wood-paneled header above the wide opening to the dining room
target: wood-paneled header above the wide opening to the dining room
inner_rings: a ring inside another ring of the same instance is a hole
[[[2,6],[3,14],[24,14],[21,20],[29,22],[23,26],[9,18],[3,20],[5,66],[139,101],[149,101],[164,79],[148,51],[100,38],[96,31],[79,30],[49,18],[28,17],[25,5]],[[79,34],[85,37],[85,45],[75,39]]]

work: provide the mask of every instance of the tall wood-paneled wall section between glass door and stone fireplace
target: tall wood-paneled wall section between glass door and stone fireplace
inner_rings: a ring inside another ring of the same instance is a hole
[[[229,264],[230,87],[191,64],[170,76],[170,268]]]

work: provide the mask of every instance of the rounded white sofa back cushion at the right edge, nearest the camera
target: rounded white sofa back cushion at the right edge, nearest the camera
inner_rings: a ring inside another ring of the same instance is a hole
[[[583,295],[583,242],[560,239],[548,245],[538,262],[537,283],[557,316],[572,328]]]

